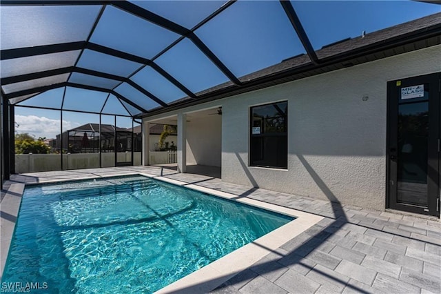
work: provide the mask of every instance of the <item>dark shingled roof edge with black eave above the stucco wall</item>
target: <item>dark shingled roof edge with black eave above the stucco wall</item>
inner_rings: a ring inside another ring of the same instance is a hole
[[[441,43],[441,12],[431,14],[407,23],[378,30],[346,41],[336,42],[316,50],[319,63],[314,64],[308,55],[285,59],[280,63],[240,77],[242,87],[231,81],[196,93],[201,98],[185,97],[172,104],[172,107],[152,110],[144,117],[167,112],[183,106],[201,104],[224,97],[250,92],[287,81],[294,81],[324,72],[339,70],[404,52],[419,50]],[[173,107],[174,106],[174,107]]]

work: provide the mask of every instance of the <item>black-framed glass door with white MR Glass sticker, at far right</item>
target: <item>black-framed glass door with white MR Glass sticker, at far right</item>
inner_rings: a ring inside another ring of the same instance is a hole
[[[440,74],[388,83],[389,208],[440,215]]]

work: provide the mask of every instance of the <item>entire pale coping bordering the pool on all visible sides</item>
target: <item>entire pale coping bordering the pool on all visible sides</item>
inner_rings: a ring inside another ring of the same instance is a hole
[[[21,204],[21,196],[25,186],[41,185],[41,184],[54,184],[63,182],[75,182],[83,179],[98,179],[105,177],[120,177],[120,176],[130,176],[130,175],[142,175],[144,177],[158,179],[161,182],[167,182],[170,184],[175,184],[177,186],[183,186],[192,190],[198,190],[209,195],[214,195],[216,197],[222,197],[232,201],[240,202],[243,204],[248,204],[258,208],[263,208],[265,210],[270,210],[275,213],[281,213],[283,215],[289,215],[291,217],[296,217],[293,221],[271,231],[267,235],[260,237],[249,244],[236,249],[232,253],[229,253],[216,261],[207,264],[203,268],[195,271],[164,288],[156,291],[156,293],[207,293],[214,290],[227,280],[234,277],[241,271],[249,268],[256,262],[258,262],[263,257],[276,253],[283,256],[283,253],[277,252],[276,249],[290,239],[300,235],[300,233],[306,231],[314,224],[320,222],[324,217],[319,215],[313,215],[311,213],[305,213],[300,210],[294,210],[292,208],[287,208],[283,206],[278,206],[275,204],[269,204],[267,202],[261,202],[256,199],[250,199],[247,197],[238,197],[237,195],[225,193],[223,191],[214,190],[211,188],[206,188],[203,186],[198,186],[196,184],[189,184],[187,182],[181,182],[176,179],[170,179],[163,176],[152,175],[142,172],[133,173],[121,173],[112,175],[97,175],[81,177],[76,179],[54,179],[47,180],[44,182],[37,183],[8,183],[5,186],[5,196],[1,201],[1,264],[0,264],[0,277],[3,275],[3,268],[6,264],[6,259],[8,254],[3,255],[6,251],[9,253],[10,242],[12,241],[12,235],[14,233],[14,228],[17,220],[17,215],[19,213],[19,208]],[[6,216],[6,217],[4,217]]]

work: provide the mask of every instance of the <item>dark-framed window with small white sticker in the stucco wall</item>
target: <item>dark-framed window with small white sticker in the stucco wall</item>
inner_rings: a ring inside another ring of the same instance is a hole
[[[288,102],[251,108],[250,166],[288,167]]]

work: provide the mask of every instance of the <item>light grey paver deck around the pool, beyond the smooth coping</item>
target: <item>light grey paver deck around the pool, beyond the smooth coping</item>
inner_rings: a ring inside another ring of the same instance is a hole
[[[29,173],[13,175],[12,182],[134,172],[162,175],[325,217],[212,293],[441,293],[439,219],[367,210],[152,166]],[[194,288],[183,292],[194,293]]]

